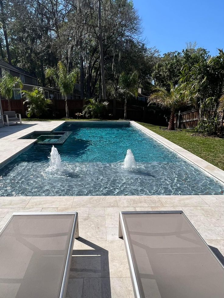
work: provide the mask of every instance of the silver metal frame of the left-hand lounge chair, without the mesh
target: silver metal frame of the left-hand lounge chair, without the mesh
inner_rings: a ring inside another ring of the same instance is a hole
[[[4,232],[7,224],[9,221],[11,221],[13,216],[17,215],[67,215],[67,214],[72,214],[75,215],[73,226],[72,226],[72,233],[71,233],[71,239],[69,241],[68,245],[68,254],[66,257],[66,263],[65,263],[65,271],[61,283],[61,292],[59,298],[65,298],[66,296],[66,291],[67,291],[67,286],[68,286],[68,278],[69,278],[69,270],[70,270],[70,265],[71,265],[71,260],[72,260],[72,251],[73,251],[73,245],[74,245],[74,240],[79,238],[79,219],[78,219],[78,212],[73,211],[73,212],[16,212],[13,213],[12,216],[9,218],[7,223],[5,224],[4,228],[2,231],[0,231],[0,235]]]

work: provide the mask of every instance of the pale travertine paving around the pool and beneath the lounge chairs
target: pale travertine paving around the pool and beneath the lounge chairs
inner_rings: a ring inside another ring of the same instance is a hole
[[[224,183],[224,171],[130,121],[142,131]],[[50,132],[64,121],[33,121],[0,127],[0,167],[35,140],[19,139],[34,131]],[[208,245],[224,255],[224,196],[51,196],[0,197],[0,230],[13,212],[77,211],[67,298],[134,298],[123,240],[118,238],[119,211],[183,210]]]

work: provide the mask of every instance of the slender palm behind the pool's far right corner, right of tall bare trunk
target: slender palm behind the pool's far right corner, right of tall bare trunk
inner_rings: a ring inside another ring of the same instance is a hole
[[[124,120],[127,119],[127,99],[128,95],[138,96],[138,73],[134,71],[130,74],[126,74],[124,71],[120,74],[119,77],[119,89],[124,92]]]

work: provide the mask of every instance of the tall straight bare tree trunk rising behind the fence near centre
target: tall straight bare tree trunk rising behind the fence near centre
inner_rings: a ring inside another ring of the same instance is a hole
[[[102,41],[102,28],[101,28],[101,0],[98,0],[98,20],[99,20],[99,47],[100,47],[100,70],[101,70],[101,83],[102,83],[102,97],[103,101],[106,100],[106,86],[104,78],[104,62],[103,62],[103,41]]]

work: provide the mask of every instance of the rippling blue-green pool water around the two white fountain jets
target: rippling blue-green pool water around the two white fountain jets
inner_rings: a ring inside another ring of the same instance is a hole
[[[132,124],[66,122],[54,145],[64,167],[49,168],[52,145],[34,144],[0,169],[0,196],[213,195],[224,187]],[[136,169],[123,168],[131,149]]]

